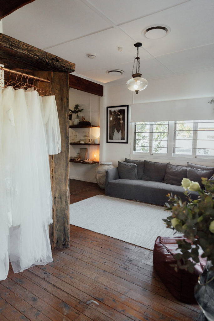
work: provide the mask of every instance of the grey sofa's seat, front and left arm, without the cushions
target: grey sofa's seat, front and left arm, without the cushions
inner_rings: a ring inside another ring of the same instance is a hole
[[[106,171],[106,195],[137,200],[146,203],[164,205],[168,201],[167,194],[180,196],[183,201],[186,196],[184,188],[178,185],[142,179],[121,179],[118,168]],[[198,192],[191,192],[191,198],[197,199]]]

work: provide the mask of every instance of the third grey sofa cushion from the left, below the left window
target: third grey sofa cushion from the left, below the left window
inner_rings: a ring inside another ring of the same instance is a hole
[[[153,182],[162,182],[166,174],[167,164],[170,163],[158,163],[144,160],[144,169],[141,179]]]

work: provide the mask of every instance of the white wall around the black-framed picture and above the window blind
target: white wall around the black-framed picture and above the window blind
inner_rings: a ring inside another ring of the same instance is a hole
[[[189,98],[201,98],[214,96],[214,85],[213,85],[213,71],[199,72],[194,74],[185,74],[178,76],[170,76],[161,79],[154,79],[149,81],[148,88],[144,91],[136,94],[135,92],[126,89],[125,83],[118,85],[105,85],[105,98],[103,102],[103,117],[100,123],[103,124],[102,128],[102,155],[101,160],[113,161],[113,164],[117,166],[117,162],[123,161],[124,157],[131,158],[131,132],[133,124],[130,123],[130,112],[129,110],[129,140],[128,144],[115,144],[106,143],[106,106],[117,106],[117,105],[132,105],[143,102],[155,102],[155,101],[166,101],[166,100],[179,100]],[[210,107],[210,106],[208,106]],[[194,117],[193,117],[194,118]],[[214,113],[213,113],[214,119]],[[158,119],[157,119],[158,120]],[[176,120],[176,119],[175,119]],[[132,159],[141,159],[132,157]],[[178,159],[161,159],[151,157],[143,157],[152,161],[166,162],[170,161],[172,164],[186,164],[186,160]],[[141,159],[142,160],[142,159]],[[192,160],[193,163],[201,163],[200,161]],[[213,165],[212,161],[205,161],[204,164],[207,166]]]

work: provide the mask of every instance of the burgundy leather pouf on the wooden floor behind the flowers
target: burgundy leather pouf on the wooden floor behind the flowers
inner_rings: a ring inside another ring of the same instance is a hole
[[[194,266],[193,273],[185,270],[175,272],[174,267],[170,265],[176,263],[173,256],[178,253],[176,239],[181,238],[183,237],[158,236],[154,246],[153,264],[161,281],[176,299],[185,303],[195,303],[194,286],[198,282],[199,274],[203,271],[206,259],[200,259],[201,262]]]

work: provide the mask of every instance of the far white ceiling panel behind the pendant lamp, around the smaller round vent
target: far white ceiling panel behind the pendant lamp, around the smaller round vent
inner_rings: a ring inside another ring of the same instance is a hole
[[[133,61],[125,64],[112,65],[111,68],[102,68],[97,70],[88,70],[81,73],[83,76],[90,77],[100,82],[111,82],[115,80],[127,81],[132,78]],[[124,71],[122,76],[106,74],[107,69],[121,69]],[[142,77],[146,79],[158,78],[161,76],[170,76],[173,73],[159,63],[155,58],[141,60]]]

